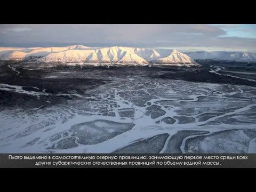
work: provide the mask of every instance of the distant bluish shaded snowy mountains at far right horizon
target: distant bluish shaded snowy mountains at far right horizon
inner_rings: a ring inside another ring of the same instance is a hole
[[[216,61],[256,62],[256,53],[251,52],[196,51],[185,53],[195,60],[212,59]]]

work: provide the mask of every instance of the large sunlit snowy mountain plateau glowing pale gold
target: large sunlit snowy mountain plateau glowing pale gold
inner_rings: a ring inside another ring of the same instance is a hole
[[[0,49],[0,60],[61,63],[109,63],[109,64],[183,64],[196,65],[188,55],[177,50],[154,50],[136,47],[86,47],[73,45],[67,47],[36,47]]]

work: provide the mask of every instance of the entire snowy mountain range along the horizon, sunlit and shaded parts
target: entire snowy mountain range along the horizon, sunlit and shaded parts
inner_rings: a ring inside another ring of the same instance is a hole
[[[0,60],[58,63],[107,63],[110,65],[178,65],[195,66],[195,60],[256,62],[256,53],[196,51],[181,53],[170,49],[142,49],[137,47],[0,47]]]

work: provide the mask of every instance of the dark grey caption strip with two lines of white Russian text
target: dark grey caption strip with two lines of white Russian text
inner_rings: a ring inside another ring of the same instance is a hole
[[[256,168],[256,154],[0,154],[0,168]]]

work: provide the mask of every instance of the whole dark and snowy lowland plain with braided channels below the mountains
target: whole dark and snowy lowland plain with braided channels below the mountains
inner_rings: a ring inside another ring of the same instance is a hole
[[[256,153],[256,67],[0,62],[0,153]]]

